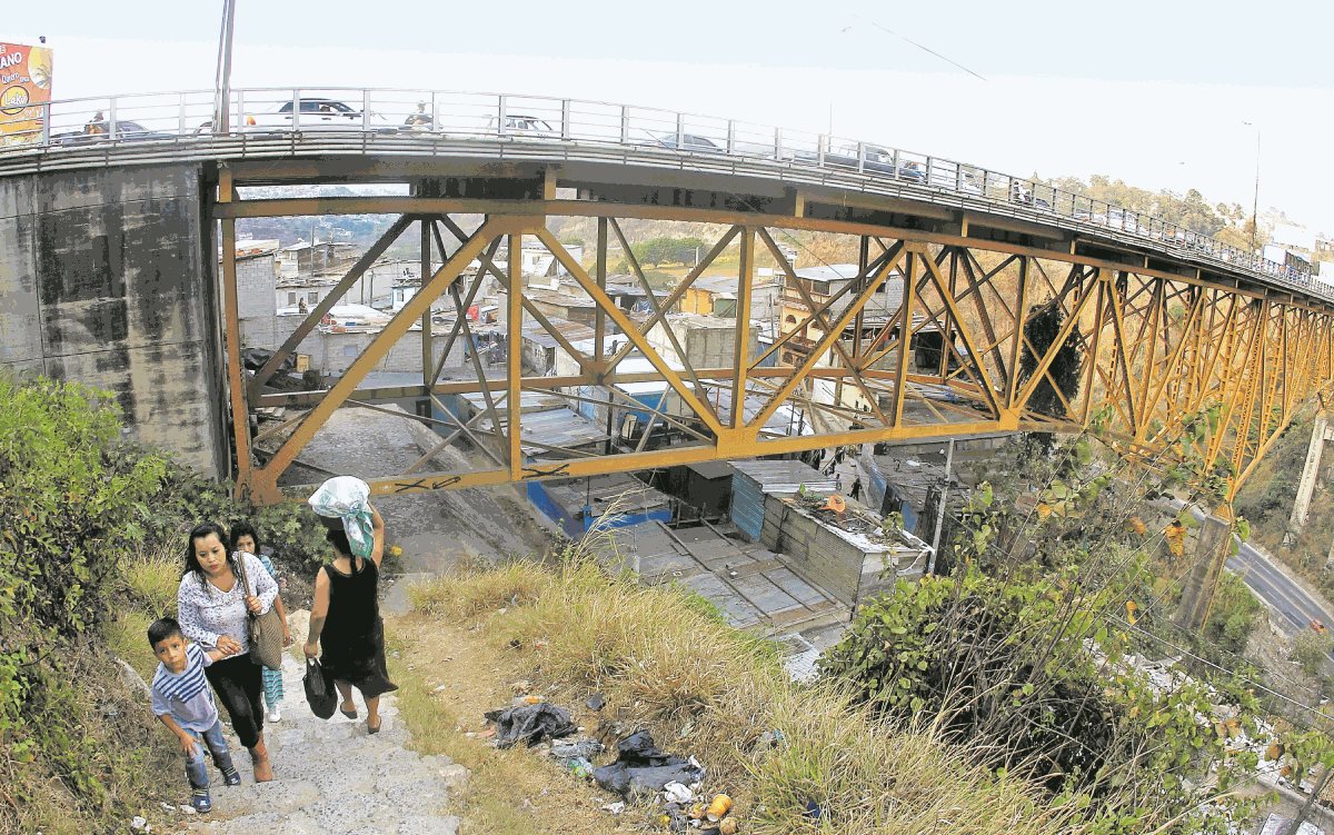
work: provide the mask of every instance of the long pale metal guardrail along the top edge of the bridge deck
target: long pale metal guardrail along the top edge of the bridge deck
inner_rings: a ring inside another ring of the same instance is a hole
[[[213,91],[67,99],[41,105],[40,131],[9,133],[7,157],[124,144],[188,145],[219,136]],[[21,113],[20,113],[21,115]],[[1334,301],[1334,287],[1309,271],[1270,261],[1207,235],[1142,212],[938,156],[866,140],[756,125],[674,111],[510,93],[422,89],[252,88],[232,91],[227,136],[374,133],[442,140],[500,140],[634,147],[699,160],[727,157],[783,171],[855,173],[890,181],[920,199],[948,195],[992,213],[1050,220],[1121,239],[1141,240],[1198,263],[1251,273],[1267,283]],[[0,112],[0,125],[17,116]],[[184,151],[181,151],[184,153]]]

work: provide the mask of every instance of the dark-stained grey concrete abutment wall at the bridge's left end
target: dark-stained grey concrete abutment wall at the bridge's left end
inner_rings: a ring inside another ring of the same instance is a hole
[[[0,177],[0,364],[108,389],[128,436],[221,475],[201,183],[197,165]]]

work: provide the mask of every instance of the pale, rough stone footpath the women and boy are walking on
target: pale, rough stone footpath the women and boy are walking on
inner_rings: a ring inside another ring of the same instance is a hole
[[[307,612],[293,612],[304,634]],[[300,643],[300,639],[299,639]],[[448,756],[420,756],[399,720],[394,695],[382,700],[379,734],[366,732],[366,706],[356,696],[359,720],[319,719],[305,704],[303,666],[283,659],[283,720],[265,724],[275,780],[255,783],[249,756],[228,732],[241,784],[227,787],[213,770],[213,811],[187,831],[199,835],[456,835],[450,795],[468,770]],[[225,722],[224,722],[225,724]],[[239,756],[237,756],[239,752]]]

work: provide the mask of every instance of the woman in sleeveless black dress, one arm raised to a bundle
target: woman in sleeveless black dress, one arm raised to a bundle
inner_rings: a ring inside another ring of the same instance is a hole
[[[390,682],[384,664],[384,624],[380,620],[379,580],[380,560],[384,556],[384,519],[371,508],[374,546],[371,558],[352,556],[347,534],[328,532],[334,546],[334,562],[315,575],[315,604],[311,607],[311,634],[305,642],[305,656],[315,658],[320,648],[320,664],[334,679],[343,703],[339,711],[356,719],[352,688],[362,691],[366,702],[366,730],[380,730],[380,695],[398,690]]]

